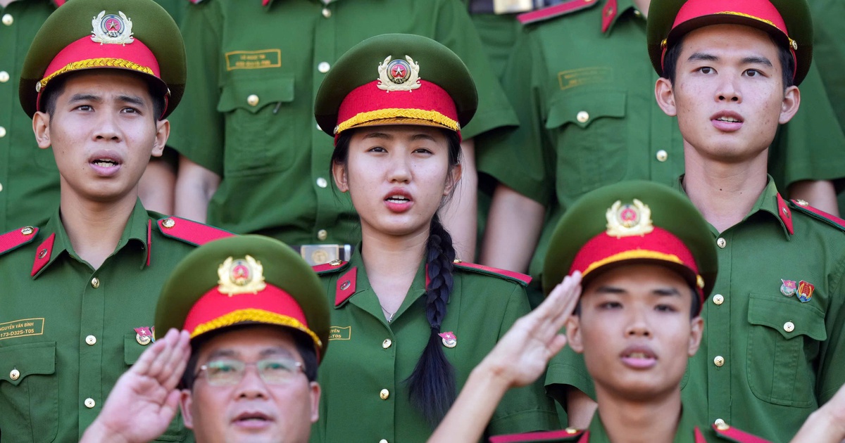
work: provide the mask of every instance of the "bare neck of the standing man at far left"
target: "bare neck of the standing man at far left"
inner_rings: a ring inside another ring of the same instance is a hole
[[[127,197],[117,202],[90,202],[62,192],[59,209],[64,230],[74,251],[91,267],[99,268],[114,252],[135,200]]]

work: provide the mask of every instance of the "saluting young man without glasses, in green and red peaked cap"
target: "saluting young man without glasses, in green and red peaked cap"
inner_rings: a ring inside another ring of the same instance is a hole
[[[706,221],[683,194],[648,181],[587,193],[554,230],[546,263],[548,299],[472,371],[432,441],[472,440],[502,394],[536,380],[567,343],[596,380],[589,428],[499,435],[493,443],[760,441],[696,421],[682,406],[680,383],[701,343],[701,305],[717,273]]]

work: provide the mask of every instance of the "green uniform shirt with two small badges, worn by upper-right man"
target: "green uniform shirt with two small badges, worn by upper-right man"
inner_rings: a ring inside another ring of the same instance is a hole
[[[845,383],[845,228],[813,211],[784,202],[770,177],[742,222],[711,228],[718,278],[701,312],[701,348],[681,383],[696,420],[788,441]],[[814,285],[810,300],[784,295],[783,280]],[[546,385],[595,398],[583,358],[566,349]]]

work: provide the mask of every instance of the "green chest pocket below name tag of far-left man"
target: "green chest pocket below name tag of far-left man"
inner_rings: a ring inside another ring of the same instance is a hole
[[[3,443],[55,440],[56,342],[0,347],[0,429]]]

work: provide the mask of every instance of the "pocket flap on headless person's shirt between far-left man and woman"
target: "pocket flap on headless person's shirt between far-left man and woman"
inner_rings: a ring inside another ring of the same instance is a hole
[[[251,113],[266,105],[293,101],[293,75],[280,74],[272,78],[230,80],[223,86],[217,111],[230,112],[237,108]]]

